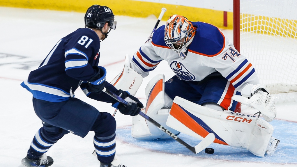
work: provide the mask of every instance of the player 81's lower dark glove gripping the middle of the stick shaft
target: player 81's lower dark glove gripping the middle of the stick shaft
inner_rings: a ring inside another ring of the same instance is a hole
[[[138,100],[138,98],[132,96],[127,91],[119,90],[117,93],[119,97],[127,101],[129,104],[125,106],[122,103],[115,102],[113,103],[113,107],[119,109],[119,111],[124,115],[131,115],[132,117],[139,114],[140,109],[143,108],[143,104]]]

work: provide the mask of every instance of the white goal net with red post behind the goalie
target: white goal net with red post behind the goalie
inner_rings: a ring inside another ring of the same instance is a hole
[[[295,0],[233,0],[234,47],[276,102],[297,101],[296,9]]]

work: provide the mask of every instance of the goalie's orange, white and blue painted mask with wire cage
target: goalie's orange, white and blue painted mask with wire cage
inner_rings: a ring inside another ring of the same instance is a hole
[[[187,47],[196,33],[192,23],[181,15],[172,15],[165,24],[165,43],[181,59],[187,56]]]

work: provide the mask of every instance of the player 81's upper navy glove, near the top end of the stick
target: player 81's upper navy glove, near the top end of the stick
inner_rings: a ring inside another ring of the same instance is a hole
[[[97,73],[89,79],[87,90],[89,92],[101,93],[105,87],[106,69],[101,66],[93,67]]]

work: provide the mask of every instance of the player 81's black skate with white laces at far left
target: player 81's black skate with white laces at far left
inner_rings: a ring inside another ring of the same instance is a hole
[[[53,165],[54,160],[53,158],[46,156],[45,154],[43,154],[39,160],[31,160],[28,157],[23,158],[22,160],[22,164],[23,166],[28,166],[28,167],[32,167],[32,166],[51,166]],[[101,167],[101,165],[100,165]]]

